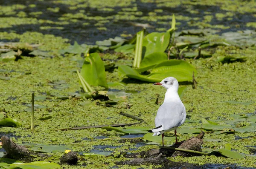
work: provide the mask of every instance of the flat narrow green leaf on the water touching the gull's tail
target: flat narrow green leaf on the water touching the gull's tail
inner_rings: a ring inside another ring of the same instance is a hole
[[[143,134],[148,133],[150,130],[149,127],[102,127],[102,129],[106,130],[115,130],[116,132],[121,132],[125,134]]]

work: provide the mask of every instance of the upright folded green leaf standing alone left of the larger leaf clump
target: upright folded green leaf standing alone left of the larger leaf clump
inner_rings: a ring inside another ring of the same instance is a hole
[[[81,75],[89,85],[108,88],[104,63],[98,53],[92,53],[85,58]]]

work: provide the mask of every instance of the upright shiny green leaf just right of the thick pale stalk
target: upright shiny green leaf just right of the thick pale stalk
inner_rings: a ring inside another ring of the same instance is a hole
[[[154,52],[164,52],[169,45],[170,37],[170,32],[152,32],[146,35],[143,39],[144,56]]]

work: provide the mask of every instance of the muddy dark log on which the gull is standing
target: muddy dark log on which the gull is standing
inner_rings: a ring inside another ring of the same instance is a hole
[[[196,137],[191,137],[188,140],[185,140],[179,144],[174,144],[170,147],[201,152],[201,145],[203,144],[202,137],[204,137],[204,132],[201,132]],[[142,164],[156,164],[157,162],[157,163],[162,163],[162,165],[165,164],[168,166],[172,166],[171,163],[173,164],[174,162],[166,158],[163,158],[163,156],[176,157],[177,155],[189,157],[189,156],[193,156],[193,155],[195,156],[200,154],[196,154],[193,152],[181,152],[181,151],[176,151],[173,149],[165,149],[161,147],[160,149],[150,149],[148,151],[142,151],[139,153],[125,155],[126,158],[134,158],[134,159],[129,161],[122,161],[117,164],[142,165]]]

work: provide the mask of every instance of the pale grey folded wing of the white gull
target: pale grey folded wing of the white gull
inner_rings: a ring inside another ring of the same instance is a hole
[[[182,102],[179,103],[163,103],[155,118],[156,127],[162,126],[164,130],[172,129],[180,126],[186,119],[186,109]]]

